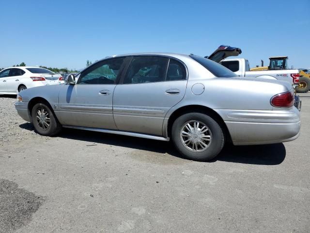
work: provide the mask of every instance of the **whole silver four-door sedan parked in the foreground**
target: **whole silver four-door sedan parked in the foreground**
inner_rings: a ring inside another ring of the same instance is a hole
[[[234,145],[279,143],[299,135],[290,83],[235,77],[196,55],[136,53],[100,60],[66,84],[21,91],[16,109],[41,135],[62,127],[172,140],[191,160]]]

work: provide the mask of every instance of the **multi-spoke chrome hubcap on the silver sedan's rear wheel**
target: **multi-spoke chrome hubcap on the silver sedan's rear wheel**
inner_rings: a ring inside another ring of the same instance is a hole
[[[183,145],[187,150],[202,152],[207,150],[212,141],[210,129],[201,121],[187,121],[180,132]]]

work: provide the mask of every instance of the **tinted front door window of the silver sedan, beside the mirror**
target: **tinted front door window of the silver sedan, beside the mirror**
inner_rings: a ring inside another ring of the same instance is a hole
[[[83,71],[78,79],[80,84],[115,84],[124,57],[105,60]]]

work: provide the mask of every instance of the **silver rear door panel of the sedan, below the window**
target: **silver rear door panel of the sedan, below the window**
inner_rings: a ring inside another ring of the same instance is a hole
[[[117,128],[162,136],[164,118],[171,106],[183,99],[186,83],[187,80],[117,85],[113,95]],[[167,94],[169,89],[178,90],[178,94]]]

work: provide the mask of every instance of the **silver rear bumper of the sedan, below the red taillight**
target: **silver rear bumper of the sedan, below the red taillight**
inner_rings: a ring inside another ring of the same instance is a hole
[[[219,110],[234,145],[259,145],[296,139],[300,131],[298,109],[282,111]]]

